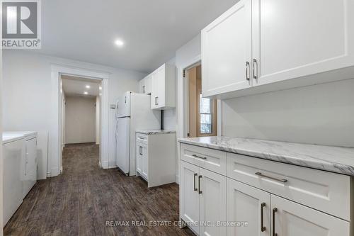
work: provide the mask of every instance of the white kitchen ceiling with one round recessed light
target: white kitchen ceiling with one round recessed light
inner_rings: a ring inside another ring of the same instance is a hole
[[[151,72],[237,1],[45,0],[40,52]]]

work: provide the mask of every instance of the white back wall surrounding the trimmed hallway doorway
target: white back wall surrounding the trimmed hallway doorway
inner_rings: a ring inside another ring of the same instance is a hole
[[[138,80],[144,77],[140,72],[125,69],[104,67],[98,64],[89,64],[59,57],[40,55],[24,50],[6,50],[3,52],[4,60],[4,130],[50,130],[48,113],[53,109],[51,65],[60,64],[69,67],[94,69],[110,73],[110,104],[115,104],[118,97],[127,90],[137,91]],[[54,111],[54,110],[53,110]],[[115,167],[115,110],[110,110],[109,117],[109,161],[106,166]],[[46,159],[49,149],[55,145],[49,133],[48,138],[41,134],[38,146]],[[46,144],[46,140],[49,140]],[[47,162],[48,172],[51,171],[53,162],[57,163],[57,157],[50,157]],[[40,166],[38,172],[46,172],[45,167]]]

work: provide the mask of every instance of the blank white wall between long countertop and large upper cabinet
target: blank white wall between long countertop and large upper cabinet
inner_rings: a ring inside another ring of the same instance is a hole
[[[222,135],[354,147],[354,79],[229,99]]]

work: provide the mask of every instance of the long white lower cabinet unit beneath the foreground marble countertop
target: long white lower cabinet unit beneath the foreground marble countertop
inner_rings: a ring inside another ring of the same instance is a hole
[[[331,210],[333,214],[326,213],[328,208],[314,203],[319,201],[317,198],[321,195],[312,193],[319,191],[317,181],[321,177],[321,183],[326,187],[323,195],[336,199],[328,201],[328,204],[334,204],[333,206],[338,208],[350,208],[350,202],[353,201],[350,199],[353,199],[353,196],[347,196],[346,193],[350,192],[353,184],[347,183],[345,176],[291,164],[278,166],[278,163],[270,161],[268,166],[263,163],[264,160],[253,157],[231,154],[232,158],[229,158],[229,153],[226,153],[228,171],[227,176],[224,176],[203,168],[207,166],[201,162],[191,164],[190,159],[187,158],[188,162],[183,160],[189,155],[186,150],[193,148],[190,148],[190,145],[181,145],[180,213],[181,220],[197,235],[353,235],[353,232],[350,234],[350,217],[343,218],[346,214]],[[203,157],[209,157],[212,156],[210,152],[214,150],[198,147],[198,150],[194,151],[201,153]],[[240,167],[241,163],[245,167]],[[232,168],[229,168],[229,165],[232,165]],[[252,174],[255,172],[254,168],[259,168],[256,169],[256,174]],[[309,170],[312,174],[307,173]],[[299,185],[299,179],[306,184]],[[342,186],[343,198],[336,196],[336,191],[333,192],[333,179],[337,179],[338,185]],[[309,183],[312,183],[312,189],[315,190],[310,191],[311,189],[307,188]],[[278,188],[270,188],[275,184]],[[300,198],[296,191],[291,191],[292,189],[314,197]],[[283,193],[285,191],[289,193]]]

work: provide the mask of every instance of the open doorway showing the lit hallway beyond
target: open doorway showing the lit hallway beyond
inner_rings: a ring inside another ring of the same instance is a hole
[[[102,81],[61,74],[60,86],[62,159],[81,158],[81,162],[99,166]],[[85,155],[84,152],[96,154]],[[90,159],[83,160],[86,157]],[[67,166],[62,160],[61,172],[63,165]]]

